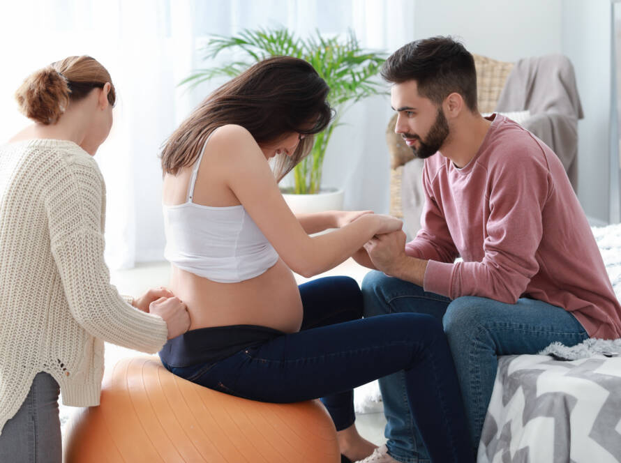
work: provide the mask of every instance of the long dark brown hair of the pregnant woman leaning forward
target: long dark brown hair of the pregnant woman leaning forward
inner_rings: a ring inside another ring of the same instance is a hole
[[[174,175],[193,165],[211,132],[236,124],[246,128],[257,144],[274,142],[290,132],[307,135],[291,157],[278,156],[275,175],[280,181],[313,147],[310,135],[330,122],[329,90],[302,59],[264,59],[211,93],[170,135],[161,155],[163,172]]]

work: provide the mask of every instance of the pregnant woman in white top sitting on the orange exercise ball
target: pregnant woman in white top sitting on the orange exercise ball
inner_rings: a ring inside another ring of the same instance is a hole
[[[266,402],[323,397],[344,461],[374,450],[354,425],[352,388],[400,372],[403,400],[433,461],[471,462],[440,322],[421,314],[361,319],[362,294],[352,278],[295,282],[292,271],[327,271],[376,234],[402,226],[371,211],[296,217],[285,204],[277,183],[329,123],[328,91],[306,61],[266,59],[214,91],[168,140],[165,257],[191,325],[160,358],[175,374],[232,395]]]

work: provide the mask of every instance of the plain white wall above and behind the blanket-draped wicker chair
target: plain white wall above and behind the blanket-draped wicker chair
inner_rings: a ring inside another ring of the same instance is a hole
[[[601,222],[611,218],[610,13],[610,0],[416,0],[414,15],[414,39],[456,36],[470,52],[501,61],[569,56],[585,113],[578,123],[578,198]]]

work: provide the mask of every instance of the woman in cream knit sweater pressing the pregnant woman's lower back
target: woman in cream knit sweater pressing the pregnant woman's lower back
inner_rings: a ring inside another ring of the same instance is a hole
[[[33,73],[16,97],[34,123],[0,146],[0,462],[61,462],[59,390],[99,404],[104,341],[154,353],[190,324],[167,289],[132,299],[110,284],[93,155],[111,82],[89,56]]]

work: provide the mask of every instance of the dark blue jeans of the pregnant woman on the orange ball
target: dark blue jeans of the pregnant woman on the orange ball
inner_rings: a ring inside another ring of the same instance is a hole
[[[473,462],[463,403],[442,324],[424,314],[361,319],[355,280],[331,277],[299,287],[301,331],[216,363],[169,367],[189,381],[262,402],[322,397],[337,430],[354,423],[352,388],[403,370],[403,399],[434,462]]]

